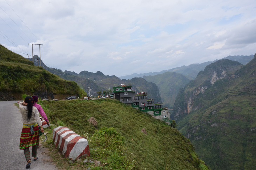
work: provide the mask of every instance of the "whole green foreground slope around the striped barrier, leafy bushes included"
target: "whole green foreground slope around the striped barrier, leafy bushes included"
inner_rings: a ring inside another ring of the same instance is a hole
[[[69,164],[59,157],[64,162],[55,161],[61,169],[208,169],[176,128],[119,101],[42,101],[41,105],[52,124],[67,126],[88,140],[88,159],[108,163],[104,167]],[[96,127],[87,121],[90,117],[96,119]],[[49,149],[52,142],[49,139]]]

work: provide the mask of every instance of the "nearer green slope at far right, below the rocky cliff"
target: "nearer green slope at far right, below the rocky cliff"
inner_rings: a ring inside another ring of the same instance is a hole
[[[212,169],[256,169],[255,60],[198,95],[203,107],[177,121]]]

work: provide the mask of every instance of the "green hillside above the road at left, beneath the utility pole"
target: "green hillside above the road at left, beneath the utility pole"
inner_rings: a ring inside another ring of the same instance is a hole
[[[0,45],[0,100],[19,100],[22,94],[45,99],[86,96],[74,81],[63,80],[36,67],[32,61]]]

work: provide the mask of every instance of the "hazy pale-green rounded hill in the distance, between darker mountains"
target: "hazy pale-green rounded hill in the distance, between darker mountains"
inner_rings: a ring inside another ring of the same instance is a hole
[[[162,102],[167,106],[174,105],[180,88],[183,88],[190,81],[186,76],[174,72],[144,76],[143,79],[153,82],[158,86]]]

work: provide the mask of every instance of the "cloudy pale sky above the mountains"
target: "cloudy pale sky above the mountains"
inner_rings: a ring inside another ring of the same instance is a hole
[[[160,72],[256,53],[255,0],[0,0],[0,44],[62,71]],[[28,55],[27,55],[28,54]]]

